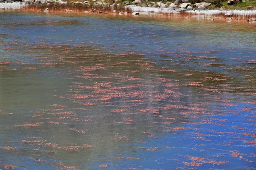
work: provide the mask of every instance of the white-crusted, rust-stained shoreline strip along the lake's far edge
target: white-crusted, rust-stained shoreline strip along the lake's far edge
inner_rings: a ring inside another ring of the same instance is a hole
[[[47,6],[46,6],[47,7]],[[33,5],[26,5],[22,2],[12,2],[12,3],[0,3],[1,11],[26,11],[26,12],[49,12],[49,13],[105,13],[107,15],[154,15],[154,16],[166,16],[175,17],[177,19],[206,19],[206,20],[227,20],[227,21],[247,21],[251,23],[256,23],[256,10],[218,10],[218,9],[208,9],[208,10],[182,10],[175,11],[168,8],[157,8],[157,7],[140,7],[137,5],[128,5],[119,10],[107,10],[105,12],[95,10],[92,12],[90,10],[81,9],[69,9],[66,6],[65,9],[51,9],[49,7],[48,11],[44,10],[45,7],[34,7]],[[92,10],[92,9],[91,9]],[[126,12],[125,12],[126,11]],[[128,12],[127,12],[128,11]]]

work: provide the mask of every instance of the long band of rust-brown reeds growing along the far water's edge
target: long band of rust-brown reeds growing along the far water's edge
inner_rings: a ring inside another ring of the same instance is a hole
[[[169,9],[159,9],[154,7],[139,7],[139,6],[125,6],[125,4],[79,4],[67,2],[67,4],[51,3],[51,4],[31,4],[23,7],[21,10],[28,11],[44,11],[46,8],[49,11],[65,12],[72,11],[74,13],[132,13],[132,12],[147,12],[156,13],[165,16],[175,17],[199,17],[199,18],[221,18],[229,20],[248,20],[249,18],[256,18],[256,10],[191,10],[191,11],[176,11]],[[227,15],[229,13],[229,15]]]

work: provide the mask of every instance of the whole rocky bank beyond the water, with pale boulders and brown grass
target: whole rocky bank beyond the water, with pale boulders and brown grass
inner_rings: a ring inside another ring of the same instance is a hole
[[[244,0],[229,0],[228,4],[239,3]],[[196,2],[196,3],[194,3]],[[247,20],[248,22],[256,22],[256,8],[247,7],[247,10],[224,10],[224,9],[212,9],[216,1],[214,0],[175,0],[153,2],[148,0],[134,0],[122,1],[122,0],[77,0],[77,1],[64,1],[64,0],[0,0],[0,10],[19,10],[28,7],[44,7],[45,12],[51,11],[53,5],[59,5],[66,7],[67,11],[69,7],[72,9],[76,7],[79,9],[85,9],[85,12],[95,13],[118,13],[119,15],[126,14],[131,11],[133,15],[139,14],[167,14],[167,15],[185,15],[186,18],[202,17],[202,18],[214,18],[222,17],[229,20]],[[211,9],[210,9],[211,8]],[[123,9],[123,10],[121,10]],[[56,10],[56,8],[55,8]],[[101,11],[102,10],[102,11]]]

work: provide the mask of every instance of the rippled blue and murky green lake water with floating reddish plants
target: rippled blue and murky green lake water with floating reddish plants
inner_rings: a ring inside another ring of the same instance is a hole
[[[1,12],[0,46],[0,169],[256,169],[255,23]]]

